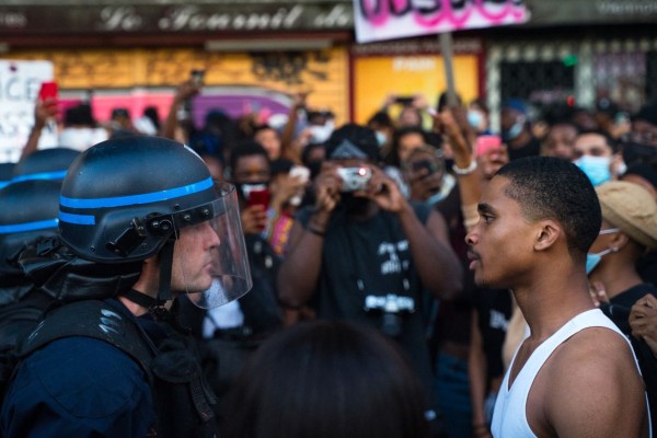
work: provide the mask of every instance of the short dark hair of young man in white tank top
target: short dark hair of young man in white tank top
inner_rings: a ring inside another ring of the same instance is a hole
[[[529,157],[503,166],[497,176],[509,181],[505,193],[529,220],[554,219],[566,233],[568,252],[581,258],[600,232],[602,214],[593,185],[567,160]]]

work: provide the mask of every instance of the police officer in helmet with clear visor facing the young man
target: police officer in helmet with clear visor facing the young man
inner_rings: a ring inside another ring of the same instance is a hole
[[[207,309],[250,289],[234,187],[178,142],[107,140],[69,168],[59,232],[62,245],[21,255],[64,304],[21,346],[1,435],[216,436],[172,299]]]

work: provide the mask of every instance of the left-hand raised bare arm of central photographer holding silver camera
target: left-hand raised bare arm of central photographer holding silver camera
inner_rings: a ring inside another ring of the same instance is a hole
[[[322,267],[322,249],[331,215],[339,200],[339,177],[325,163],[315,181],[315,207],[308,226],[297,220],[290,230],[286,257],[278,270],[278,296],[290,308],[300,308],[312,297]]]

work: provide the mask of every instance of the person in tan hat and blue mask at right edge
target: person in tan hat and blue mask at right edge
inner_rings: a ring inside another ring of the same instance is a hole
[[[647,345],[632,336],[632,306],[646,295],[657,297],[657,287],[645,283],[636,270],[636,262],[657,250],[657,203],[637,184],[615,181],[596,188],[602,210],[600,234],[587,254],[587,273],[593,301],[627,335],[637,353],[646,380],[652,417],[657,416],[657,359],[645,354]],[[600,295],[602,292],[602,295]],[[604,299],[608,299],[606,302]]]

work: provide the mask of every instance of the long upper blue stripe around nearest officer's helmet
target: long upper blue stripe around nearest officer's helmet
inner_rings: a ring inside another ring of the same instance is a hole
[[[137,204],[150,204],[203,192],[207,188],[210,188],[215,183],[212,182],[212,178],[209,177],[199,183],[194,183],[176,188],[170,188],[161,192],[145,193],[141,195],[116,196],[112,198],[97,199],[74,199],[68,198],[66,196],[60,196],[59,205],[69,208],[107,208],[125,207]]]

